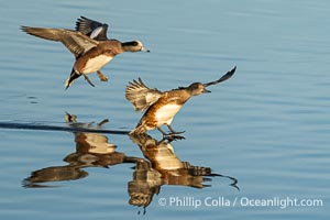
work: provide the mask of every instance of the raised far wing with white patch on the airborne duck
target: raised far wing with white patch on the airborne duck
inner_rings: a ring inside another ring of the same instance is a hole
[[[97,41],[107,41],[108,24],[80,16],[76,22],[76,31]]]

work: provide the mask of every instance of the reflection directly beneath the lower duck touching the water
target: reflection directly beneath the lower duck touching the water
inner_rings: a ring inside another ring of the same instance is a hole
[[[210,167],[194,166],[180,161],[172,146],[173,141],[183,136],[167,136],[161,141],[144,134],[131,134],[147,161],[136,162],[133,179],[129,182],[130,205],[145,208],[153,196],[161,191],[162,185],[178,185],[195,188],[209,187],[206,182],[210,177],[220,176],[232,180],[231,186],[238,188],[238,180],[230,176],[212,173]]]

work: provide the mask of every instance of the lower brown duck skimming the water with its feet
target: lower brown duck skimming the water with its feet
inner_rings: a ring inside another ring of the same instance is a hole
[[[172,121],[182,107],[194,96],[211,92],[207,87],[217,85],[233,76],[237,67],[224,74],[221,78],[207,84],[194,82],[188,87],[178,87],[168,91],[160,91],[156,88],[148,88],[142,79],[132,80],[125,88],[125,98],[135,111],[142,111],[140,122],[130,134],[143,134],[150,130],[157,129],[163,136],[177,135],[184,132],[176,132],[172,128]],[[166,125],[169,133],[164,132],[161,127]]]

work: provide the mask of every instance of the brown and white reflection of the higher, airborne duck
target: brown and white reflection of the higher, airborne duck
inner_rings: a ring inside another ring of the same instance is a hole
[[[79,123],[77,117],[66,113],[65,121],[75,128],[100,129],[108,120],[103,120],[94,127],[91,123]],[[76,152],[67,155],[63,161],[68,163],[65,166],[51,166],[32,172],[25,178],[25,187],[47,187],[42,183],[76,180],[85,178],[88,173],[81,168],[86,167],[109,167],[121,163],[133,163],[135,157],[128,157],[124,153],[117,152],[117,146],[109,143],[109,139],[99,133],[75,132]]]

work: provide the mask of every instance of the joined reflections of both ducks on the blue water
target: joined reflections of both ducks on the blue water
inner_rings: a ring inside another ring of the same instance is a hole
[[[69,127],[85,129],[101,129],[100,123],[80,123],[77,117],[67,113],[65,120]],[[210,167],[195,166],[183,162],[175,154],[173,143],[183,136],[173,135],[156,140],[148,134],[129,135],[135,143],[144,158],[127,156],[117,152],[117,145],[110,143],[108,136],[100,133],[74,132],[76,151],[65,156],[65,166],[51,166],[35,172],[23,182],[24,187],[51,187],[50,183],[76,180],[85,178],[86,167],[109,167],[122,163],[135,164],[132,180],[128,183],[129,204],[143,208],[152,202],[154,195],[158,195],[163,185],[177,185],[194,188],[210,187],[211,177],[223,177],[231,180],[230,186],[238,188],[238,180],[230,176],[212,173]],[[208,183],[208,184],[206,184]],[[139,212],[140,213],[140,212]]]

